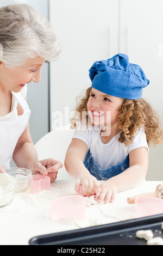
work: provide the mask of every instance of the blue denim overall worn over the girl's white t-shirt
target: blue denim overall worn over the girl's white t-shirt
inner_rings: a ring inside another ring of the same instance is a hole
[[[108,180],[111,177],[116,176],[116,175],[122,173],[127,168],[129,168],[129,155],[127,155],[126,159],[122,163],[120,163],[116,166],[111,166],[108,169],[99,168],[99,166],[97,165],[97,163],[95,162],[95,160],[92,157],[92,151],[95,148],[97,140],[100,136],[100,132],[101,132],[101,130],[95,131],[95,135],[92,139],[90,149],[86,155],[84,165],[89,170],[90,174],[95,176],[97,180]]]

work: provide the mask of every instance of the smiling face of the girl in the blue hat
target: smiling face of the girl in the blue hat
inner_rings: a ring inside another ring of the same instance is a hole
[[[110,96],[92,88],[87,102],[87,111],[92,124],[111,128],[117,121],[122,103],[122,98]]]

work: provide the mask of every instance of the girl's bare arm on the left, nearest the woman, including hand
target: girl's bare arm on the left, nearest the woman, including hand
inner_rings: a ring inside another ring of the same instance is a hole
[[[80,139],[72,139],[65,157],[65,168],[67,172],[76,179],[75,190],[78,192],[80,184],[83,185],[83,192],[87,196],[95,194],[99,183],[84,166],[84,158],[87,152],[87,145]]]

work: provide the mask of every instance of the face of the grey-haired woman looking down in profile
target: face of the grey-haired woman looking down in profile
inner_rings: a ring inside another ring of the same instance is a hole
[[[7,68],[0,61],[0,88],[18,93],[27,83],[39,83],[43,63],[45,59],[39,56],[30,58],[23,65],[14,68]]]

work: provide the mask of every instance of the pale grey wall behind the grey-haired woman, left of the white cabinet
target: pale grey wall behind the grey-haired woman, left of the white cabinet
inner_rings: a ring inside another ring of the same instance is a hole
[[[31,5],[48,19],[48,0],[0,0],[0,7],[19,3]],[[41,74],[40,83],[27,86],[27,102],[32,112],[29,128],[34,144],[49,132],[49,63],[42,66]]]

